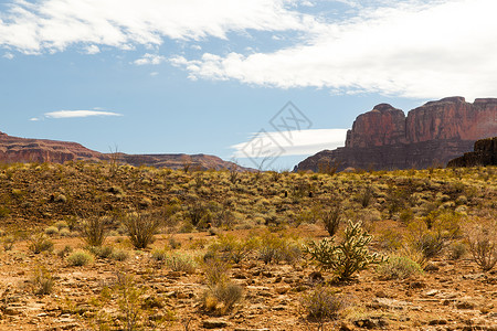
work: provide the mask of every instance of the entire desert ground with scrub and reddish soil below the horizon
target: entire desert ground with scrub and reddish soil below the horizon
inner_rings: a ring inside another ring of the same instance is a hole
[[[0,180],[2,330],[497,324],[495,167],[15,163]]]

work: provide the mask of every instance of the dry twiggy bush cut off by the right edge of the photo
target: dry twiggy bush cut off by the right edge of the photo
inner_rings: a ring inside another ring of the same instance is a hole
[[[467,241],[473,259],[483,271],[491,270],[497,264],[496,231],[479,226],[472,231]]]

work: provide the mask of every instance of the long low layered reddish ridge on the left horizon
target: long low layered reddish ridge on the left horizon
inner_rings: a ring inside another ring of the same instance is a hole
[[[86,147],[67,141],[46,139],[25,139],[11,137],[0,132],[0,163],[28,163],[51,162],[64,163],[67,161],[109,161],[117,160],[130,166],[149,166],[156,168],[182,169],[188,167],[194,170],[208,169],[233,169],[248,170],[237,167],[221,158],[207,154],[125,154],[125,153],[101,153]]]

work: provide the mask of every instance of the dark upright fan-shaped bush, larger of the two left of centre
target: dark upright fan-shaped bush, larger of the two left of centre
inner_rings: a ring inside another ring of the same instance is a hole
[[[155,235],[163,224],[161,215],[130,213],[124,220],[129,239],[137,249],[147,248],[154,243]]]

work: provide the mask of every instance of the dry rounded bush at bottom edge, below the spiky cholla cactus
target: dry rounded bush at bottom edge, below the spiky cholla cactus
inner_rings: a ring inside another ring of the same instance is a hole
[[[307,318],[318,324],[317,330],[325,330],[327,321],[338,319],[338,313],[345,307],[345,302],[330,288],[318,286],[300,298],[300,306]]]

